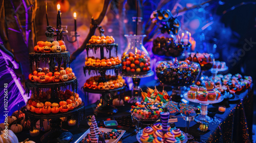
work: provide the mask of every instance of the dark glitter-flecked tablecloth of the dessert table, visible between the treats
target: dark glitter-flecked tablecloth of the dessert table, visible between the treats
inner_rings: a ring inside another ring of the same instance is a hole
[[[148,82],[148,85],[156,85],[157,81]],[[161,87],[160,87],[161,88]],[[167,90],[167,88],[165,88]],[[168,90],[167,90],[168,91]],[[169,90],[172,91],[172,90]],[[127,91],[121,93],[124,95],[131,94],[131,91]],[[195,141],[198,142],[251,142],[252,137],[252,118],[253,118],[253,89],[252,85],[249,89],[239,94],[239,101],[229,103],[227,106],[227,101],[223,101],[221,103],[212,104],[208,106],[208,115],[214,118],[214,121],[209,123],[209,128],[206,132],[201,132],[199,130],[199,123],[190,122],[190,129],[188,131],[189,134],[194,136]],[[189,103],[195,105],[197,107],[199,104],[197,103]],[[226,105],[226,111],[221,113],[218,111],[219,105]],[[135,126],[131,124],[131,113],[129,112],[132,104],[126,104],[125,106],[117,107],[118,113],[105,116],[98,115],[96,116],[96,120],[98,124],[107,118],[111,118],[112,120],[119,120],[125,123],[122,123],[125,126],[121,128],[125,130],[125,134],[122,136],[120,140],[123,142],[138,142],[136,139]],[[93,109],[95,105],[86,106],[86,115],[93,114]],[[178,115],[181,116],[181,115]],[[123,119],[125,118],[125,120]],[[126,123],[127,122],[127,123]],[[129,123],[130,122],[130,123]],[[120,122],[119,122],[120,123]],[[81,121],[79,128],[76,126],[69,127],[66,125],[67,123],[62,124],[63,129],[68,129],[73,135],[73,141],[77,140],[84,132],[89,129],[86,121]],[[175,123],[176,127],[180,128],[182,131],[185,131],[185,121],[183,118],[178,117],[178,122]],[[100,127],[100,125],[99,125]],[[43,132],[40,132],[40,135],[43,135]],[[21,133],[16,134],[19,141],[25,140],[27,137],[30,140],[34,140],[35,142],[40,142],[40,137],[30,137],[28,131],[23,131]],[[191,141],[191,140],[188,140]]]

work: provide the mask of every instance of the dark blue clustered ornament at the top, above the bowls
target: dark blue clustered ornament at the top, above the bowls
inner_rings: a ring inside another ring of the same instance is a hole
[[[178,34],[180,28],[180,21],[176,19],[170,12],[170,10],[155,10],[151,14],[151,19],[153,22],[158,22],[162,27],[160,28],[161,33],[167,32],[170,34],[172,32],[174,35]]]

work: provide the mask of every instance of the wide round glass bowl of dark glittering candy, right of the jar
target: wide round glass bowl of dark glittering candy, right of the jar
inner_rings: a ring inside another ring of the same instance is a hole
[[[188,86],[194,84],[200,75],[200,65],[196,62],[160,61],[156,67],[156,75],[162,85]]]

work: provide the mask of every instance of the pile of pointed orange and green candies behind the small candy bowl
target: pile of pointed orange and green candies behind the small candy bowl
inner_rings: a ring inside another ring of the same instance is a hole
[[[143,91],[141,92],[141,96],[144,102],[150,101],[154,103],[163,104],[168,102],[170,99],[168,93],[165,90],[162,90],[162,92],[160,92],[157,90],[156,86],[155,86],[155,89],[151,89],[147,87],[146,91],[147,92],[143,92]]]

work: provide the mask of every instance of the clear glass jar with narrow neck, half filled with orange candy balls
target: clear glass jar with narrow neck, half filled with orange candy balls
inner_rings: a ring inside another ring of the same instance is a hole
[[[122,75],[136,77],[151,72],[150,56],[143,46],[146,35],[124,35],[128,44],[122,55]]]

